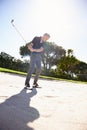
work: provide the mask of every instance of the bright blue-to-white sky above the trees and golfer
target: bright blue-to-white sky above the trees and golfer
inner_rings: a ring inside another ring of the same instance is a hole
[[[12,19],[26,42],[47,32],[49,41],[87,62],[87,0],[0,0],[0,52],[20,58],[25,42]]]

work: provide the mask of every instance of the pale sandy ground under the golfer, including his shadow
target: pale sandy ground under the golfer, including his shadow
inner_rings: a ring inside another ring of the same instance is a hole
[[[87,84],[40,79],[26,91],[24,81],[0,73],[0,130],[87,130]]]

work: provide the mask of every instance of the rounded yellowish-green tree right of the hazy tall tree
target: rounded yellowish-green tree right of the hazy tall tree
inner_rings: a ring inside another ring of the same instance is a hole
[[[62,77],[73,78],[73,74],[76,73],[75,68],[79,63],[79,60],[73,56],[73,50],[69,49],[67,54],[68,55],[63,56],[60,59],[57,65],[57,71]]]

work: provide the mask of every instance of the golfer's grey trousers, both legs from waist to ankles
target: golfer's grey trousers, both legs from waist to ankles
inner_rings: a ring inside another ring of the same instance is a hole
[[[34,83],[37,83],[40,72],[41,72],[41,56],[39,54],[31,54],[30,57],[30,67],[26,76],[25,84],[29,84],[31,79],[32,73],[36,68],[36,73],[34,77]]]

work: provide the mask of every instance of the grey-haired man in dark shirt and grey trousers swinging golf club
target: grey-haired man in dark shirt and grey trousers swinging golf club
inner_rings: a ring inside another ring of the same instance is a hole
[[[33,88],[37,88],[37,83],[41,72],[41,53],[44,50],[43,44],[50,38],[48,33],[45,33],[42,37],[34,37],[31,43],[28,45],[28,49],[31,51],[30,67],[25,80],[25,89],[30,88],[30,79],[34,69],[36,68],[36,74],[34,77]]]

